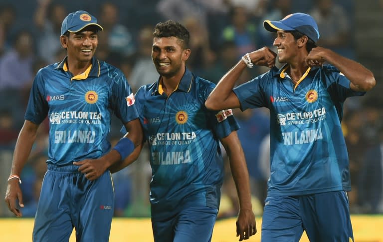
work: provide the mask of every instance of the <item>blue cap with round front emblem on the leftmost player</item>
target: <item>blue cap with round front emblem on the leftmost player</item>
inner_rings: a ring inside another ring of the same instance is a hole
[[[95,25],[99,30],[104,30],[101,25],[97,23],[97,18],[90,15],[89,12],[83,10],[71,12],[62,21],[61,35],[66,31],[72,33],[78,32],[89,25]]]

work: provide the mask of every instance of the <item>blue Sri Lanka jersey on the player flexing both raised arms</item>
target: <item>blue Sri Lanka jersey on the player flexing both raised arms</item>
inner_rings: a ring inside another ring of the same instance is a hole
[[[241,109],[270,110],[268,196],[350,191],[349,158],[341,128],[350,89],[337,68],[308,68],[294,86],[283,66],[234,88]]]

